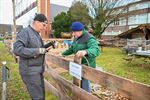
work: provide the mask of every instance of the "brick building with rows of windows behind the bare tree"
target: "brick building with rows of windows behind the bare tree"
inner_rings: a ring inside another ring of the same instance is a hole
[[[140,24],[150,23],[150,0],[133,0],[126,7],[125,16],[109,25],[102,35],[104,39],[112,39]]]

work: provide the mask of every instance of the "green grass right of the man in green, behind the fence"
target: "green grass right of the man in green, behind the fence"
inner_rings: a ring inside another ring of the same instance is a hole
[[[150,85],[150,62],[139,58],[128,63],[123,59],[126,57],[119,48],[105,47],[97,57],[97,65],[110,73]]]

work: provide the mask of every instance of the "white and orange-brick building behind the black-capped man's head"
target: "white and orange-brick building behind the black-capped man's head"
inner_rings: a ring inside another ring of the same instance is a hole
[[[27,27],[31,24],[36,13],[43,13],[48,18],[47,31],[42,32],[42,38],[50,34],[50,0],[15,0],[16,24]]]

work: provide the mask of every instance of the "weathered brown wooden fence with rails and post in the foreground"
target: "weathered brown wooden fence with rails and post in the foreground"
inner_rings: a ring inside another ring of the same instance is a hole
[[[75,57],[76,58],[76,57]],[[79,58],[75,62],[80,63]],[[60,67],[69,71],[69,60],[55,55],[46,55],[46,75],[51,77],[55,83],[50,84],[45,80],[46,88],[56,95],[60,100],[99,100],[98,97],[85,92],[77,85],[79,80],[70,82],[62,78],[53,68]],[[150,100],[150,86],[125,79],[104,71],[98,71],[82,65],[82,77],[100,84],[111,91],[121,94],[129,100]],[[75,84],[73,84],[75,83]]]

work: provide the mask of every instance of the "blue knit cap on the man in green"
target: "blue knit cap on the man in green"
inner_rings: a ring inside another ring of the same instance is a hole
[[[71,25],[72,31],[82,31],[84,29],[84,25],[80,22],[73,22]]]

